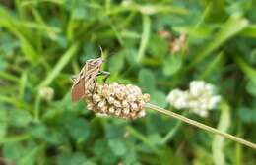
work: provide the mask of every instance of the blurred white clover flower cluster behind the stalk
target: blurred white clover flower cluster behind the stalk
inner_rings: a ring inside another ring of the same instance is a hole
[[[187,108],[202,117],[208,116],[220,100],[221,96],[214,94],[214,86],[203,81],[193,81],[188,90],[174,89],[167,96],[167,101],[176,109]]]

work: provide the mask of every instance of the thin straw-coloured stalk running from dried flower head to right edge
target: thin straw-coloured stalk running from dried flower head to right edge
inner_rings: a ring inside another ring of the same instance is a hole
[[[253,148],[253,149],[256,149],[256,144],[255,144],[255,143],[252,143],[252,142],[250,142],[250,141],[247,141],[247,140],[245,140],[245,139],[243,139],[243,138],[238,138],[238,137],[229,135],[229,134],[224,133],[224,132],[222,132],[222,131],[220,131],[220,130],[217,130],[217,129],[215,129],[215,128],[212,128],[212,127],[210,127],[210,126],[207,126],[207,125],[204,125],[204,124],[199,123],[199,122],[197,122],[197,121],[194,121],[194,120],[191,120],[191,119],[189,119],[189,118],[186,118],[186,117],[184,117],[184,116],[182,116],[182,115],[179,115],[179,114],[176,114],[176,113],[174,113],[174,112],[168,111],[168,110],[166,110],[166,109],[160,108],[159,106],[156,106],[156,105],[147,103],[146,108],[149,108],[149,109],[158,111],[158,112],[160,112],[160,113],[162,113],[162,114],[171,116],[171,117],[173,117],[173,118],[175,118],[175,119],[181,120],[181,121],[183,121],[183,122],[185,122],[185,123],[188,123],[188,124],[190,124],[190,125],[193,125],[193,126],[195,126],[195,127],[198,127],[198,128],[203,129],[203,130],[205,130],[205,131],[211,132],[211,133],[216,134],[216,135],[220,135],[220,136],[222,136],[222,137],[224,137],[224,138],[228,138],[228,139],[234,140],[234,141],[236,141],[236,142],[239,142],[239,143],[241,143],[241,144],[244,144],[244,145],[246,145],[246,146],[249,146],[249,147],[251,147],[251,148]]]

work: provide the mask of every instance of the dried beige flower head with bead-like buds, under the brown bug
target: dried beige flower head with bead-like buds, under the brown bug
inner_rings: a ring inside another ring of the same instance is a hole
[[[96,84],[95,91],[87,93],[89,110],[125,119],[144,117],[145,105],[150,99],[149,94],[142,94],[138,86],[131,84]]]

